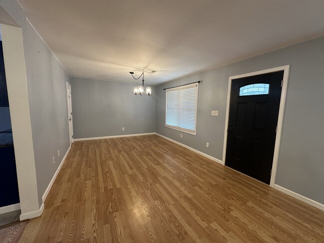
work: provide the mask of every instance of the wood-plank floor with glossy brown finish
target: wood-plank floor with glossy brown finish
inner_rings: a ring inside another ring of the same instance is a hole
[[[21,242],[323,243],[324,212],[157,135],[75,142]]]

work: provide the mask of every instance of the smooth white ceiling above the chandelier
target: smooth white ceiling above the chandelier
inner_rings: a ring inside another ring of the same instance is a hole
[[[18,0],[73,77],[157,85],[324,35],[324,0]]]

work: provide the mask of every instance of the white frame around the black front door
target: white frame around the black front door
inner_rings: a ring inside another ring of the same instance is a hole
[[[284,71],[283,86],[282,86],[282,90],[281,90],[280,107],[279,107],[279,115],[278,115],[278,123],[277,123],[275,151],[274,151],[274,155],[273,155],[272,174],[271,174],[271,179],[270,179],[271,187],[274,187],[274,185],[275,185],[276,174],[277,174],[280,139],[281,139],[281,133],[282,133],[282,124],[283,124],[283,120],[284,120],[284,111],[285,111],[286,95],[287,95],[287,87],[288,87],[289,67],[290,67],[290,65],[276,67],[276,68],[270,68],[270,69],[261,70],[261,71],[257,71],[257,72],[231,76],[228,79],[227,105],[226,105],[225,130],[224,130],[224,145],[223,145],[223,159],[222,159],[223,165],[225,165],[225,159],[226,159],[227,128],[228,128],[228,120],[229,120],[229,108],[230,108],[230,99],[231,99],[232,80],[250,77],[250,76],[256,76],[256,75],[265,74],[265,73],[274,73],[274,72],[278,72],[278,71]]]

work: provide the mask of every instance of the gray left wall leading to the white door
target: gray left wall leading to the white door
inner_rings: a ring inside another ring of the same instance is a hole
[[[26,20],[20,5],[11,0],[0,0],[0,4],[22,28],[40,206],[41,197],[70,145],[66,96],[70,77]]]

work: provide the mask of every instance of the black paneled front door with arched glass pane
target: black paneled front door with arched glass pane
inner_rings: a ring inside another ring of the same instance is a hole
[[[225,165],[270,184],[284,71],[232,80]]]

